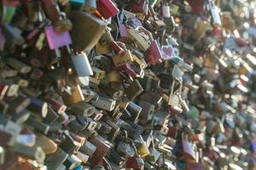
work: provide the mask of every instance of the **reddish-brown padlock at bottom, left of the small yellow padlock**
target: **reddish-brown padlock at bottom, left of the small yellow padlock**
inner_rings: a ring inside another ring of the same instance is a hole
[[[89,162],[92,165],[97,165],[102,162],[102,158],[107,154],[110,145],[108,140],[103,139],[101,136],[90,139],[90,142],[96,146],[96,151],[90,156]]]

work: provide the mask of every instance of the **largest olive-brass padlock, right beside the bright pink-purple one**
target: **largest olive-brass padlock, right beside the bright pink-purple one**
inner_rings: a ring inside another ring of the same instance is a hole
[[[90,51],[102,37],[106,23],[92,14],[79,11],[73,11],[70,20],[73,23],[71,31],[73,48],[79,52]],[[84,31],[87,33],[84,34]]]

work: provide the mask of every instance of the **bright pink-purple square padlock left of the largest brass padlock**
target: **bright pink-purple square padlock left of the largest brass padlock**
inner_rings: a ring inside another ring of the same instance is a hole
[[[56,32],[54,26],[46,26],[45,34],[50,49],[56,49],[65,47],[72,43],[71,37],[68,31]]]

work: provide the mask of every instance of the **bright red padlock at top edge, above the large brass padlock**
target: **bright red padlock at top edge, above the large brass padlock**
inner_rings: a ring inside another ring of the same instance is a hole
[[[119,8],[117,8],[111,0],[97,1],[97,10],[105,19],[109,19],[119,13]]]

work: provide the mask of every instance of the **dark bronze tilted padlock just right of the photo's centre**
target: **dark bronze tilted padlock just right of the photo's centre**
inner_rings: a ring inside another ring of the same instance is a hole
[[[141,93],[143,93],[143,87],[137,80],[133,81],[128,88],[125,88],[125,94],[131,100],[137,98]]]

